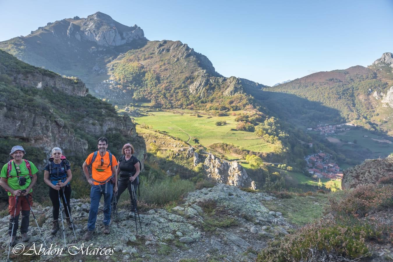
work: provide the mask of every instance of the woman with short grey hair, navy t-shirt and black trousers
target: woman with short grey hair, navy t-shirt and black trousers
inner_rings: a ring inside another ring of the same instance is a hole
[[[64,208],[64,212],[66,213],[68,228],[72,229],[70,214],[68,213],[68,211],[71,212],[71,207],[70,207],[71,179],[72,179],[72,174],[71,174],[70,162],[67,159],[65,159],[65,157],[62,155],[62,150],[59,147],[53,148],[52,156],[49,159],[48,164],[46,164],[44,168],[44,182],[49,186],[49,196],[53,205],[53,209],[52,209],[53,226],[51,231],[53,235],[55,235],[57,231],[60,229],[59,194],[63,200],[64,207],[68,206],[68,208]],[[66,199],[64,199],[64,196]]]

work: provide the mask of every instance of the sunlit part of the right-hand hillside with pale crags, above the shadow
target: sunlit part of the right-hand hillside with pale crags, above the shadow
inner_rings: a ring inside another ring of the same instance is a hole
[[[344,121],[369,130],[393,134],[389,119],[390,87],[393,85],[390,61],[384,53],[371,66],[352,66],[344,70],[312,73],[265,91],[290,93],[340,110]],[[386,60],[387,59],[387,60]]]

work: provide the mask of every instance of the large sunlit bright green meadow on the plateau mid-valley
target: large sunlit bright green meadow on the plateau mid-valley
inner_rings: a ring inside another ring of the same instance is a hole
[[[253,132],[231,130],[237,122],[235,116],[196,117],[189,113],[180,115],[171,112],[151,112],[148,116],[134,117],[138,124],[151,125],[154,130],[165,131],[167,134],[197,145],[193,139],[206,148],[213,143],[227,143],[255,152],[272,152],[272,145],[257,137]],[[226,121],[227,125],[216,126],[217,121]]]

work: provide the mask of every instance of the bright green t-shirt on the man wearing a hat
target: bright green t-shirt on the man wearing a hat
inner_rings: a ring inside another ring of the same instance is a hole
[[[33,175],[33,174],[37,173],[38,172],[37,167],[35,167],[35,165],[33,163],[31,163],[30,161],[29,161],[29,163],[30,163],[31,174]],[[7,178],[7,165],[8,165],[8,163],[5,164],[1,170],[0,177],[2,177],[2,178]],[[11,162],[11,166],[12,166],[11,172],[9,173],[10,177],[7,180],[8,186],[14,190],[27,189],[31,183],[31,178],[29,176],[29,170],[26,167],[26,162],[24,160],[22,160],[22,163],[20,165],[16,165],[17,167],[19,167],[19,171],[18,171],[19,176],[25,176],[25,178],[26,178],[25,185],[18,184],[17,170],[15,170],[13,161]],[[31,193],[31,192],[33,192],[33,189],[31,189],[29,193]],[[11,194],[11,192],[8,192],[8,195],[13,196],[13,194]]]

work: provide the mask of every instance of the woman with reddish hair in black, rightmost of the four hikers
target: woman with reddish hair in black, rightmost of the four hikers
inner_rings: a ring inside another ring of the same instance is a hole
[[[116,203],[125,189],[128,189],[131,200],[131,216],[135,215],[136,211],[136,188],[138,187],[138,175],[140,173],[140,162],[133,156],[134,151],[134,147],[130,143],[125,144],[121,150],[123,156],[119,158],[117,167],[119,180]]]

